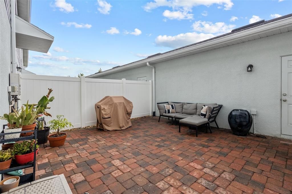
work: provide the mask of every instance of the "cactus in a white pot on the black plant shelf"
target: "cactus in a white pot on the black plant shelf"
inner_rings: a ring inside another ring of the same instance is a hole
[[[14,111],[14,109],[13,109]],[[13,113],[10,112],[9,114],[4,114],[3,117],[0,117],[0,119],[7,120],[7,126],[8,129],[4,129],[4,133],[12,133],[12,132],[19,132],[22,129],[22,125],[20,124],[21,118],[16,116],[16,112],[14,111]],[[20,133],[16,134],[9,134],[5,135],[5,139],[12,139],[12,138],[17,138],[20,136]]]

